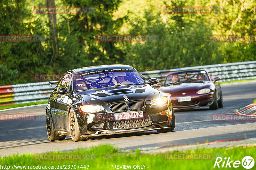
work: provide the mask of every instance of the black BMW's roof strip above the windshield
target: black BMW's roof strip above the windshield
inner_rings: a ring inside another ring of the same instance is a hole
[[[86,71],[96,71],[96,70],[104,70],[104,69],[118,69],[118,68],[133,68],[132,66],[129,65],[124,65],[124,64],[112,64],[112,65],[101,65],[101,66],[90,66],[90,67],[82,67],[82,68],[76,68],[73,69],[74,74],[76,73],[82,73]]]

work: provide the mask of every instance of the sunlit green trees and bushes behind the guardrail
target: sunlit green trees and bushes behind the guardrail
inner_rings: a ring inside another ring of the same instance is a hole
[[[37,14],[35,6],[91,7],[82,14]],[[165,6],[211,6],[210,13],[166,13]],[[0,34],[43,34],[42,42],[0,42],[0,85],[33,74],[129,64],[138,71],[256,59],[254,42],[213,42],[212,35],[255,35],[255,0],[0,0]],[[155,41],[98,42],[97,35],[157,35]]]

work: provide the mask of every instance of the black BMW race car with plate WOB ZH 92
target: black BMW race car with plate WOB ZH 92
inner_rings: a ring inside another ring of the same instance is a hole
[[[169,132],[175,127],[170,97],[153,88],[128,65],[84,67],[66,72],[49,97],[46,129],[50,140],[85,140],[130,132]]]

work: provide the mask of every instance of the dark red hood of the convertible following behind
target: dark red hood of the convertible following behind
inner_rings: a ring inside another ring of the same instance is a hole
[[[182,94],[182,93],[187,93],[187,94],[195,94],[198,90],[204,89],[204,88],[209,88],[211,90],[213,87],[213,83],[183,83],[180,85],[172,85],[168,87],[161,87],[159,90],[165,93],[170,93],[172,96],[175,94]]]

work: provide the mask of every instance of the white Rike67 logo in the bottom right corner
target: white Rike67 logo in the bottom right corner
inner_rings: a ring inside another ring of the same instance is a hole
[[[254,159],[251,156],[245,156],[242,161],[240,160],[230,160],[230,157],[228,157],[228,159],[225,157],[224,160],[221,157],[217,157],[214,163],[214,168],[218,167],[218,168],[227,168],[227,167],[234,167],[237,168],[239,167],[241,164],[245,169],[251,169],[254,166]]]

